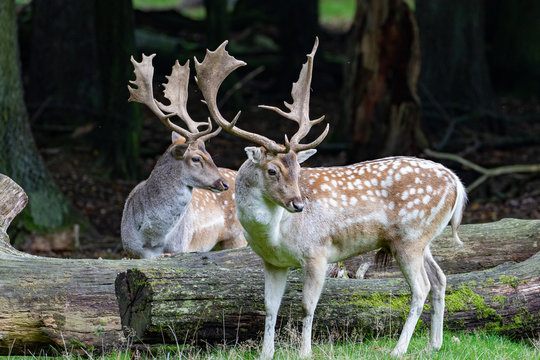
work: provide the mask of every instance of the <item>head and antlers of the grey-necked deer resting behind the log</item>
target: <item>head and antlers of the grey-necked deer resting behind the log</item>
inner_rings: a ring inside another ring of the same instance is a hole
[[[166,169],[162,172],[167,173],[167,177],[177,178],[189,187],[215,192],[227,190],[227,182],[204,145],[204,142],[216,136],[221,128],[212,132],[210,119],[208,122],[195,122],[187,112],[189,61],[182,66],[176,61],[171,75],[167,76],[167,83],[163,84],[164,96],[169,101],[166,105],[154,99],[154,56],[155,54],[143,54],[141,62],[131,57],[136,78],[130,80],[135,87],[128,85],[131,95],[128,100],[145,104],[173,132],[173,143],[158,161],[156,168]],[[187,128],[173,123],[171,118],[174,116],[180,118]],[[206,129],[200,131],[201,126],[206,126]]]

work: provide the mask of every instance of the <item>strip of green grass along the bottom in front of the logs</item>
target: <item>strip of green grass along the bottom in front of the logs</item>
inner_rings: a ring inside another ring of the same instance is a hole
[[[289,336],[289,339],[278,342],[276,347],[276,360],[289,360],[298,358],[298,336]],[[540,339],[532,341],[511,341],[506,337],[490,335],[486,333],[450,332],[444,334],[443,347],[438,352],[427,353],[424,351],[429,340],[426,331],[415,333],[407,354],[400,359],[540,359]],[[390,352],[396,344],[395,338],[378,338],[364,340],[349,340],[345,343],[315,343],[313,345],[313,359],[339,359],[339,360],[382,360],[388,359]],[[257,359],[259,354],[258,342],[249,341],[236,346],[207,346],[204,348],[195,346],[158,346],[152,348],[152,352],[120,351],[108,355],[76,355],[69,354],[60,356],[66,360],[130,360],[130,359],[228,359],[228,360],[251,360]],[[69,352],[67,352],[69,353]],[[62,354],[60,354],[62,355]],[[53,359],[53,356],[12,356],[3,357],[9,360],[19,359]]]

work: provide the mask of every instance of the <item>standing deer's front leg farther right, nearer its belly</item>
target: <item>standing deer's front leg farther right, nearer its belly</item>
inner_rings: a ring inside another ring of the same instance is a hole
[[[324,285],[327,261],[324,257],[309,259],[305,265],[304,289],[302,296],[302,343],[300,345],[300,357],[311,356],[311,331],[313,314],[319,302]]]

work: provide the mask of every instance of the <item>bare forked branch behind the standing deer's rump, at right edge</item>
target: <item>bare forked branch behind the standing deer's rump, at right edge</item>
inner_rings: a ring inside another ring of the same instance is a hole
[[[477,165],[455,154],[442,153],[438,151],[433,151],[431,149],[424,149],[424,153],[436,159],[445,159],[445,160],[452,160],[452,161],[458,162],[461,165],[469,167],[473,169],[474,171],[482,174],[482,176],[480,176],[471,185],[467,187],[467,191],[469,192],[475,189],[476,187],[478,187],[488,178],[493,177],[493,176],[499,176],[503,174],[515,174],[515,173],[522,173],[522,172],[540,172],[540,164],[506,165],[506,166],[499,166],[492,169],[487,169],[485,167]]]

